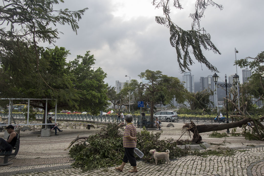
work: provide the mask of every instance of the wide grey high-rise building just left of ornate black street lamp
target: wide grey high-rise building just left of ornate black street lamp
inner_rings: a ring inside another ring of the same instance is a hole
[[[214,79],[212,75],[209,75],[207,77],[200,77],[200,91],[203,91],[205,89],[214,92],[213,95],[209,96],[209,100],[214,102],[214,107],[217,107],[218,103],[217,103],[216,85],[214,83]]]

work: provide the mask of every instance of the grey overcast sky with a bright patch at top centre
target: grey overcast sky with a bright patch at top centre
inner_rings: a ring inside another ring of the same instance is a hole
[[[176,50],[169,42],[169,29],[155,22],[155,16],[163,16],[162,9],[155,9],[151,0],[64,0],[56,8],[78,10],[89,9],[79,21],[76,35],[70,26],[57,26],[60,35],[56,45],[70,50],[69,60],[84,55],[90,50],[95,56],[94,67],[101,67],[107,73],[105,82],[111,86],[115,81],[140,80],[138,74],[146,69],[160,70],[163,74],[182,80],[177,63]],[[172,1],[171,1],[172,2]],[[184,9],[171,6],[171,18],[184,30],[191,29],[190,13],[194,12],[194,0],[181,0]],[[211,35],[211,41],[221,55],[204,51],[211,64],[217,67],[219,81],[236,73],[233,66],[235,47],[237,59],[255,57],[263,48],[263,0],[232,0],[216,3],[223,5],[220,11],[215,7],[206,9],[200,25]],[[53,46],[50,46],[51,48]],[[194,59],[190,66],[195,82],[200,77],[213,75],[205,65]],[[96,68],[95,68],[96,69]],[[238,68],[242,82],[242,69]]]

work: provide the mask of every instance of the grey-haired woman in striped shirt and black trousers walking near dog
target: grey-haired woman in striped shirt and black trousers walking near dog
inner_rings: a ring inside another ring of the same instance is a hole
[[[136,168],[136,158],[134,156],[134,148],[136,148],[136,127],[131,123],[133,116],[131,114],[126,115],[125,121],[127,123],[124,135],[123,135],[123,147],[125,149],[125,155],[121,166],[116,167],[116,170],[123,171],[125,164],[129,161],[130,165],[133,166],[132,170],[128,172],[138,172]]]

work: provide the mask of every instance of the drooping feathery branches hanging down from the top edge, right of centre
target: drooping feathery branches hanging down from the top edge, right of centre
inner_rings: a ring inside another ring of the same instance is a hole
[[[183,9],[180,0],[153,0],[153,6],[163,9],[163,17],[156,16],[157,23],[166,26],[170,30],[170,42],[177,52],[177,61],[181,72],[189,70],[189,66],[194,64],[192,54],[199,63],[203,63],[211,71],[218,72],[216,67],[209,63],[203,50],[212,50],[214,53],[221,54],[211,41],[210,34],[206,33],[203,27],[200,27],[200,20],[204,17],[204,11],[208,6],[214,6],[223,9],[222,5],[216,4],[212,0],[195,0],[195,12],[190,13],[192,24],[190,30],[183,30],[180,26],[173,22],[170,13],[170,5],[175,8]]]

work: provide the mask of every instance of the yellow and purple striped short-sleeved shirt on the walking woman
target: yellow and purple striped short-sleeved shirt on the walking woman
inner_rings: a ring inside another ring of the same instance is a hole
[[[135,140],[129,140],[128,136],[136,137],[136,127],[132,123],[128,123],[126,125],[124,136],[123,136],[123,147],[125,148],[135,148],[136,147],[136,141]]]

